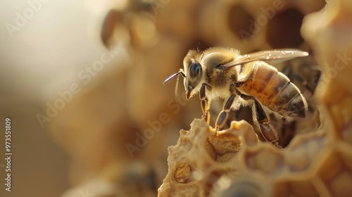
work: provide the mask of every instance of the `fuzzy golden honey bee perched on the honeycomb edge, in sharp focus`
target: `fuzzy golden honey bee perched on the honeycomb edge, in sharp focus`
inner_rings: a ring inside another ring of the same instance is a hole
[[[230,110],[250,106],[253,122],[266,141],[279,146],[279,136],[270,123],[270,114],[282,120],[306,117],[308,104],[301,91],[289,78],[264,61],[308,56],[296,49],[258,51],[240,55],[237,49],[220,47],[206,51],[190,50],[184,58],[184,69],[171,75],[164,84],[177,76],[184,77],[187,99],[199,93],[203,116],[209,123],[210,102],[224,98],[222,111],[215,120],[215,131],[225,125]]]

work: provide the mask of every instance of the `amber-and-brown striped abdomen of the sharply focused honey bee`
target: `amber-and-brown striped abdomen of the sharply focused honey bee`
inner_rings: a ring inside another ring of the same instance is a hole
[[[262,61],[245,65],[248,66],[251,74],[241,87],[246,94],[255,96],[260,103],[280,115],[306,117],[306,99],[286,75]]]

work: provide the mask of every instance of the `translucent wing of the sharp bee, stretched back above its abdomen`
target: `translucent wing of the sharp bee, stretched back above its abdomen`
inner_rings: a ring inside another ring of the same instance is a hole
[[[232,68],[236,65],[241,65],[241,64],[249,63],[253,61],[272,61],[277,59],[288,61],[292,58],[298,58],[298,57],[304,57],[304,56],[308,56],[308,53],[305,51],[300,51],[296,49],[258,51],[258,52],[243,55],[237,60],[227,63],[224,66],[225,68]]]

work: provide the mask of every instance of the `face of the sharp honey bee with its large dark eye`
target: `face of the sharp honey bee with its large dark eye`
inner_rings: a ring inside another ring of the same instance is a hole
[[[188,99],[193,96],[193,94],[191,94],[192,90],[194,90],[201,82],[201,77],[203,75],[201,64],[197,61],[192,62],[186,73],[186,78],[184,78],[184,89],[186,90],[186,97]]]

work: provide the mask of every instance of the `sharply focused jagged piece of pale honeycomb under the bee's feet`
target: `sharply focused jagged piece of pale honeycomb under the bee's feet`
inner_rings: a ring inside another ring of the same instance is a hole
[[[258,141],[244,120],[216,134],[205,120],[194,120],[191,130],[181,130],[177,145],[168,148],[169,173],[158,196],[207,196],[222,174],[243,169],[241,159],[234,155]]]

